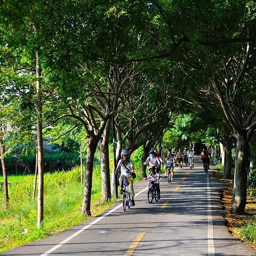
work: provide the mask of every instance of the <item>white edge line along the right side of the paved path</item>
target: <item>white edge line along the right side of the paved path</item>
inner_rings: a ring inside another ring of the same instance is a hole
[[[212,222],[212,200],[209,184],[209,174],[207,175],[207,219],[208,219],[208,256],[215,256],[214,239],[213,239],[213,222]]]

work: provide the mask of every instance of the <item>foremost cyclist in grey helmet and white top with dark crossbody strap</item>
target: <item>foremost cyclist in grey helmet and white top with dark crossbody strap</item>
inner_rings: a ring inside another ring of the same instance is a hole
[[[134,172],[134,167],[132,161],[129,159],[129,152],[126,149],[122,150],[122,158],[118,161],[117,166],[116,166],[116,171],[115,175],[118,174],[118,172],[121,172],[121,175],[119,177],[119,183],[121,184],[121,190],[120,194],[122,195],[123,192],[123,179],[127,177],[128,182],[130,183],[129,185],[129,191],[131,193],[131,206],[134,206],[134,188],[133,188],[133,177],[132,173]]]

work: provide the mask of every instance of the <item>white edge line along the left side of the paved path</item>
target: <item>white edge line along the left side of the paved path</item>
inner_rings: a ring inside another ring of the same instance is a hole
[[[145,190],[148,189],[148,186],[145,187],[145,189],[141,190],[140,192],[138,192],[134,197],[136,197],[137,195],[140,195],[142,192],[144,192]],[[78,236],[80,233],[82,233],[84,230],[86,230],[87,228],[91,227],[93,224],[96,224],[97,222],[99,222],[100,220],[102,220],[103,218],[105,218],[106,216],[110,215],[112,212],[114,212],[115,210],[119,209],[122,206],[122,204],[119,204],[117,207],[115,207],[114,209],[110,210],[109,212],[106,212],[104,215],[102,215],[99,218],[96,218],[95,221],[91,222],[90,224],[82,227],[80,230],[78,230],[76,233],[74,233],[72,236],[66,238],[65,240],[63,240],[62,242],[60,242],[59,244],[56,244],[54,247],[52,247],[50,250],[48,250],[47,252],[41,254],[40,256],[47,256],[50,253],[54,252],[55,250],[57,250],[59,247],[61,247],[63,244],[66,244],[68,241],[70,241],[71,239],[73,239],[74,237]]]

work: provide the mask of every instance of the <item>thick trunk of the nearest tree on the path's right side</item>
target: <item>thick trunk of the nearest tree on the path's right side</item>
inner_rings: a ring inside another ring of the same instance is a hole
[[[244,209],[246,205],[246,194],[247,194],[247,173],[246,173],[246,163],[248,161],[248,149],[249,144],[244,137],[237,137],[237,164],[235,171],[235,181],[233,189],[232,198],[232,209],[231,212],[235,214],[244,214]]]

